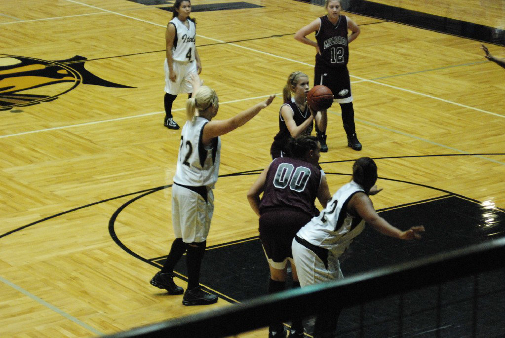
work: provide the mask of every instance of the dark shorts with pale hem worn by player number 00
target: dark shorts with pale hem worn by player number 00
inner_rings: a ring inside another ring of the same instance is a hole
[[[293,261],[291,242],[294,235],[311,220],[312,215],[295,209],[275,209],[260,216],[260,240],[268,263],[275,269]]]

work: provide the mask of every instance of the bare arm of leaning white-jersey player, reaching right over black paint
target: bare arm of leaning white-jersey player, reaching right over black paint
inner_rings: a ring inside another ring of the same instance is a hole
[[[348,207],[356,211],[356,213],[381,234],[401,240],[421,239],[420,233],[424,231],[423,226],[412,227],[407,231],[401,231],[393,227],[384,218],[379,216],[377,211],[375,211],[372,200],[365,193],[357,193],[352,196]]]

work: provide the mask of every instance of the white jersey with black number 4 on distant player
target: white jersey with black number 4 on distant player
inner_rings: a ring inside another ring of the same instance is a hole
[[[191,20],[187,19],[186,21],[189,23],[189,29],[177,17],[170,20],[176,29],[172,58],[179,62],[193,61],[196,50],[196,27]]]

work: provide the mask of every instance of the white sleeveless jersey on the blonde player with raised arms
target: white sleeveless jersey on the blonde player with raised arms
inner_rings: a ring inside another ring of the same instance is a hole
[[[182,127],[175,183],[214,188],[218,180],[221,139],[216,137],[209,146],[204,147],[201,133],[208,122],[209,120],[198,117],[194,124],[187,121]]]

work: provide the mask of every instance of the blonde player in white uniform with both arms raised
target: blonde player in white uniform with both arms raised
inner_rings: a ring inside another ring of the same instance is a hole
[[[239,112],[227,120],[213,120],[219,109],[216,92],[201,86],[196,73],[191,74],[193,97],[186,101],[187,122],[182,127],[177,167],[172,186],[172,226],[176,239],[163,268],[150,284],[180,295],[183,289],[173,281],[173,269],[186,254],[188,285],[183,305],[207,305],[218,297],[199,287],[200,265],[204,258],[211,218],[214,212],[213,188],[218,179],[221,153],[219,136],[243,126],[266,108],[275,95]]]

